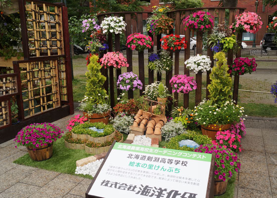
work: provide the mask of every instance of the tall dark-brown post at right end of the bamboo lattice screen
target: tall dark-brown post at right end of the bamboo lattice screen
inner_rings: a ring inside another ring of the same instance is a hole
[[[67,7],[62,7],[62,29],[63,29],[63,48],[64,48],[64,64],[66,74],[66,88],[67,88],[67,99],[69,102],[69,113],[74,113],[73,103],[73,89],[72,89],[72,70],[71,70],[71,58],[70,58],[70,43],[69,43],[69,31],[68,31],[68,18],[67,18]]]

